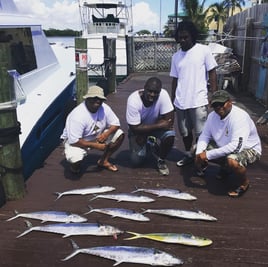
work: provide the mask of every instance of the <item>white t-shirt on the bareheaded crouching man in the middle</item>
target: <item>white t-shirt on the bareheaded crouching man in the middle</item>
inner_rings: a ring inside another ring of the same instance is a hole
[[[169,94],[165,89],[161,89],[157,101],[150,107],[143,105],[139,94],[140,91],[143,91],[143,89],[133,92],[128,97],[126,111],[128,124],[153,124],[159,119],[160,115],[169,113],[174,109]]]

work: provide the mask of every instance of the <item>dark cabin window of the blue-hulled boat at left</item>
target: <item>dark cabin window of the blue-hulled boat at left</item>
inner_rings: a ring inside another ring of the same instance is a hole
[[[0,40],[10,45],[12,69],[24,74],[37,68],[30,28],[1,29]]]

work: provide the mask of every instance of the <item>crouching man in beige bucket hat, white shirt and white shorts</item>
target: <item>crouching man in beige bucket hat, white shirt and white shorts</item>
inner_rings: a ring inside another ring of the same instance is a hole
[[[119,119],[104,103],[106,97],[101,87],[89,87],[83,98],[85,100],[68,115],[61,135],[66,160],[71,171],[79,173],[84,157],[92,149],[97,149],[103,151],[98,166],[115,172],[118,168],[109,162],[109,158],[124,140]]]

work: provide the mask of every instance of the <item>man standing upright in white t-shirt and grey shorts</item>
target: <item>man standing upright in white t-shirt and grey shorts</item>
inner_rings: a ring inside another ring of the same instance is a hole
[[[182,167],[194,161],[192,146],[200,135],[208,114],[208,82],[217,89],[217,62],[207,45],[197,43],[198,31],[191,21],[178,24],[175,39],[180,49],[172,56],[171,99],[176,109],[185,155],[177,162]]]

